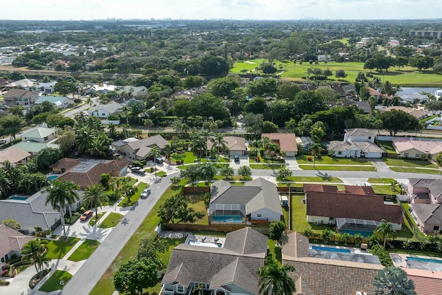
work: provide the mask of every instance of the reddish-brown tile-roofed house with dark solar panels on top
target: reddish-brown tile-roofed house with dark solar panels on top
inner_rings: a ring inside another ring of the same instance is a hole
[[[52,173],[61,173],[59,180],[72,181],[81,189],[99,182],[103,173],[118,177],[126,173],[129,162],[126,160],[95,160],[64,158],[50,166]]]

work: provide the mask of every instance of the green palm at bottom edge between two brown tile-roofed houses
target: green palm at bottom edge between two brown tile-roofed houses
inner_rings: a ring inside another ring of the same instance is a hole
[[[273,262],[258,269],[259,288],[263,295],[291,295],[296,291],[293,278],[289,272],[294,272],[291,265],[280,267]]]

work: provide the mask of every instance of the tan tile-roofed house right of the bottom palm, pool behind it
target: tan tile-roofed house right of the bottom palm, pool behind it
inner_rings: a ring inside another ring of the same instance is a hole
[[[309,239],[296,232],[282,238],[282,265],[292,265],[296,269],[289,273],[295,281],[294,294],[374,294],[374,276],[384,268],[376,256],[367,259],[371,255],[343,254],[345,260],[334,254],[317,256],[318,252],[327,253],[310,249]]]

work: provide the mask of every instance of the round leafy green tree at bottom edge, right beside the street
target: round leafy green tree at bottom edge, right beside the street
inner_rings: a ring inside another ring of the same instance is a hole
[[[143,294],[143,289],[158,282],[157,264],[151,258],[133,259],[123,263],[113,276],[113,285],[119,293]]]

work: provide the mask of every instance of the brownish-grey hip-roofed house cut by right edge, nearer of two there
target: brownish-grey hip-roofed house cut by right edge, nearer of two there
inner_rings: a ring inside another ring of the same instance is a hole
[[[442,205],[420,204],[411,205],[412,216],[421,231],[426,234],[436,233],[442,230]]]

